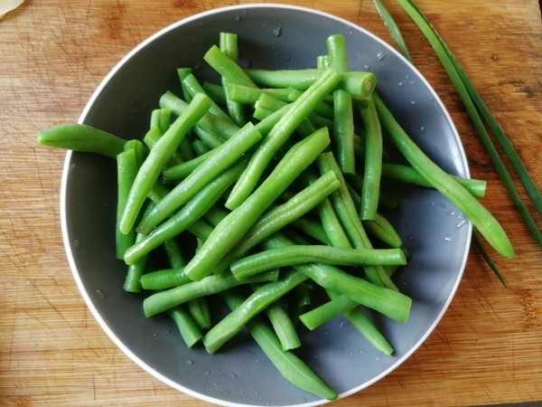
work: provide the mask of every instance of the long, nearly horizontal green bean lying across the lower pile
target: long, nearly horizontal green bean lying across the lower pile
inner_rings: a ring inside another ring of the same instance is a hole
[[[236,260],[231,272],[238,279],[259,272],[304,263],[325,263],[338,266],[405,265],[400,249],[343,249],[325,245],[295,245],[257,252]]]

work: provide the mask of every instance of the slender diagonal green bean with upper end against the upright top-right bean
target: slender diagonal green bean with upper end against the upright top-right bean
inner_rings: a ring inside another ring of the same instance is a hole
[[[339,80],[341,80],[341,75],[332,70],[326,70],[309,90],[306,90],[299,99],[292,102],[292,108],[285,112],[285,115],[271,129],[250,158],[247,169],[229,194],[226,207],[236,208],[247,199],[278,149],[290,137],[294,129],[304,121],[314,106],[322,100],[323,96],[337,85]]]

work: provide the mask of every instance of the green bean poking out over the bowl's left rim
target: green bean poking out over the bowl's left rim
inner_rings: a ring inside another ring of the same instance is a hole
[[[110,158],[124,151],[126,140],[107,131],[70,123],[38,131],[38,144],[67,150],[96,153]]]

